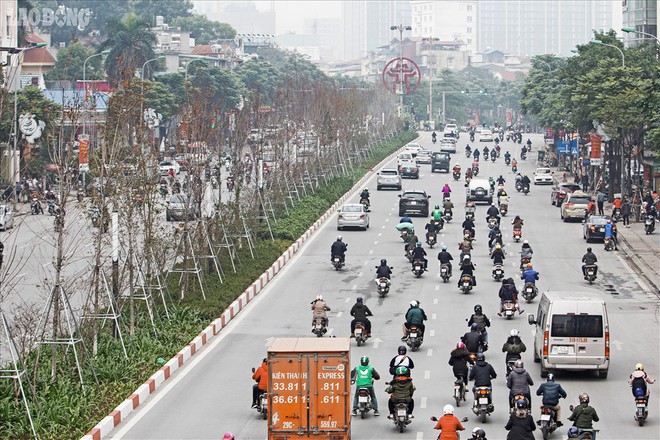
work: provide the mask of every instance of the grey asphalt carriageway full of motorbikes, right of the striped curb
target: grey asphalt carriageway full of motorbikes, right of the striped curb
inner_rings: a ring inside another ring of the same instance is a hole
[[[538,148],[542,142],[541,136],[529,137]],[[422,133],[421,141],[423,145],[432,148],[429,133]],[[463,169],[471,163],[462,153],[465,142],[464,135],[459,142],[459,153],[452,159],[453,163],[460,162]],[[480,147],[483,148],[483,144]],[[508,149],[518,155],[519,148],[504,143],[503,151]],[[531,155],[533,157],[536,156],[536,148]],[[529,159],[519,163],[522,172],[531,176],[534,163]],[[502,158],[494,164],[483,164],[482,167],[480,177],[497,177],[502,174],[507,179],[505,186],[511,195],[508,218],[519,214],[525,219],[524,238],[529,239],[534,248],[535,268],[541,274],[539,288],[544,291],[588,292],[604,298],[608,303],[613,346],[609,377],[602,380],[586,373],[557,374],[557,381],[568,392],[568,399],[562,402],[564,417],[568,416],[568,405],[576,404],[578,394],[586,391],[591,395],[591,403],[601,418],[597,424],[601,429],[599,439],[658,438],[660,413],[654,399],[658,395],[657,390],[651,386],[651,414],[647,425],[640,428],[633,420],[634,401],[626,382],[637,362],[643,362],[652,377],[659,375],[657,297],[644,291],[616,252],[605,253],[598,244],[593,247],[599,258],[599,278],[593,286],[586,284],[580,272],[580,259],[586,247],[581,238],[581,225],[559,220],[558,209],[550,205],[550,187],[532,186],[531,193],[524,196],[513,190],[513,174],[504,167]],[[439,203],[440,189],[450,181],[451,175],[431,174],[429,165],[422,168],[421,178],[418,181],[405,180],[404,188],[423,188],[431,194],[432,205]],[[485,240],[485,207],[480,205],[477,210],[477,241],[473,251],[477,264],[477,287],[469,295],[463,295],[456,288],[456,275],[447,284],[439,279],[435,259],[438,248],[443,243],[447,244],[456,258],[457,243],[462,232],[463,182],[452,180],[450,185],[457,205],[455,220],[441,232],[438,247],[429,252],[429,272],[421,279],[415,279],[410,273],[409,264],[403,256],[401,239],[394,228],[398,223],[397,192],[377,192],[375,181],[371,181],[371,227],[367,232],[341,233],[349,244],[347,266],[342,271],[335,272],[329,262],[329,247],[337,235],[335,219],[331,218],[256,300],[199,352],[190,364],[177,371],[169,383],[152,394],[146,404],[119,425],[111,438],[217,439],[225,431],[232,431],[241,440],[266,438],[265,422],[250,409],[253,383],[250,369],[258,366],[265,356],[270,338],[311,336],[309,303],[317,294],[322,294],[332,307],[330,332],[338,336],[346,336],[349,332],[349,310],[355,298],[365,298],[375,315],[372,318],[374,338],[359,348],[353,343],[351,356],[355,363],[360,356],[368,355],[372,365],[383,376],[387,375],[389,361],[400,345],[401,323],[408,302],[419,300],[429,316],[424,345],[420,351],[412,354],[416,364],[413,379],[417,387],[414,422],[406,432],[399,434],[384,415],[378,418],[369,416],[365,420],[353,419],[353,438],[437,437],[429,417],[441,415],[442,406],[452,403],[453,375],[451,367],[447,365],[449,352],[467,331],[466,318],[472,313],[475,304],[483,305],[484,312],[493,323],[489,329],[491,350],[486,353],[486,359],[498,373],[493,391],[495,412],[483,427],[488,438],[505,438],[503,427],[508,419],[508,390],[504,381],[504,354],[500,347],[511,329],[520,330],[529,347],[523,359],[535,381],[535,391],[542,379],[540,369],[532,361],[530,353],[532,327],[527,324],[525,315],[512,321],[505,321],[496,315],[498,284],[490,277],[492,265]],[[357,195],[354,200],[357,201]],[[415,218],[414,222],[420,229],[426,220]],[[506,273],[516,278],[520,245],[512,242],[510,227],[504,228],[504,236],[509,255]],[[385,299],[378,298],[373,283],[374,266],[381,258],[387,258],[390,265],[395,267],[392,291]],[[605,290],[607,287],[610,290]],[[534,304],[523,305],[525,314],[536,314],[537,304],[538,299]],[[633,321],[635,325],[632,325]],[[381,409],[385,409],[387,404],[384,387],[382,381],[377,382],[376,391]],[[538,403],[538,398],[533,398],[535,418],[538,418]],[[457,408],[456,415],[470,419],[465,423],[468,432],[479,425],[469,405]],[[564,433],[565,429],[562,428],[562,432],[556,432],[553,438],[563,438]],[[536,437],[541,437],[540,432],[536,432]]]

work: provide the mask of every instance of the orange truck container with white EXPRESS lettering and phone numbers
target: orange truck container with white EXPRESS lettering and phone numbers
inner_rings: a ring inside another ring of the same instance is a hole
[[[351,438],[350,339],[277,338],[268,349],[268,439]]]

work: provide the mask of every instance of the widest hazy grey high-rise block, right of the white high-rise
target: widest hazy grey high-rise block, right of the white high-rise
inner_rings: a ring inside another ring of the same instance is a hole
[[[577,44],[593,39],[594,30],[612,28],[613,6],[610,0],[480,0],[477,49],[567,56]]]

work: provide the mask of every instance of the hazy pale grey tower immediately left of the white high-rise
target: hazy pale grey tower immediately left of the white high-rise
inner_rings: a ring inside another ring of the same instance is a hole
[[[410,26],[410,0],[344,0],[344,59],[361,58],[367,52],[398,39],[391,26]],[[410,31],[405,31],[410,32]],[[406,35],[404,33],[404,38]]]

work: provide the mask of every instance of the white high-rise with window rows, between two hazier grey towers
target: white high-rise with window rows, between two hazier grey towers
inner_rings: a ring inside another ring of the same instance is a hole
[[[462,41],[469,55],[477,51],[475,1],[412,0],[412,36]]]

